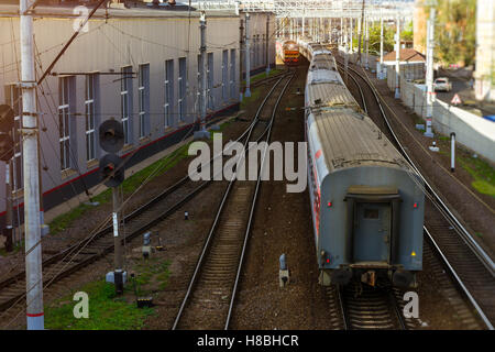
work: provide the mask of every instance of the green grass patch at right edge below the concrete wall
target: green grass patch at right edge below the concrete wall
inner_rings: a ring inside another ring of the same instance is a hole
[[[495,197],[495,169],[486,162],[466,156],[458,156],[458,163],[473,176],[474,189],[483,195]]]

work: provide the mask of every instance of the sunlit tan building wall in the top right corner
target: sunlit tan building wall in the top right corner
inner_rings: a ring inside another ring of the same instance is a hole
[[[475,97],[495,101],[495,4],[493,0],[476,3]]]

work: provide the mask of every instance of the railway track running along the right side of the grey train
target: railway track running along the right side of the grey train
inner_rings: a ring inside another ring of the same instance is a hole
[[[340,62],[338,64],[341,67],[343,66]],[[413,162],[394,132],[382,106],[381,97],[376,92],[373,84],[370,82],[367,77],[364,77],[354,68],[349,67],[349,70],[350,76],[354,76],[353,79],[356,85],[359,85],[358,80],[364,82],[369,91],[373,94],[373,99],[380,109],[391,140],[395,142],[399,152],[409,162],[411,168],[425,182],[425,194],[427,196],[426,207],[428,209],[424,227],[425,239],[441,258],[444,267],[449,271],[461,292],[471,301],[486,328],[493,330],[493,323],[495,321],[495,297],[493,295],[495,292],[495,271],[492,258],[475,242],[469,231],[462,226],[461,221],[435,190],[435,187],[428,183]],[[361,89],[360,91],[363,94]],[[362,96],[362,99],[364,101],[365,97]],[[388,106],[386,107],[389,109]]]

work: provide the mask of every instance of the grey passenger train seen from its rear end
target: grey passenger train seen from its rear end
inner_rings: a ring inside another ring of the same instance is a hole
[[[422,182],[361,110],[331,53],[300,46],[311,53],[305,130],[319,282],[388,278],[415,286],[422,268]]]

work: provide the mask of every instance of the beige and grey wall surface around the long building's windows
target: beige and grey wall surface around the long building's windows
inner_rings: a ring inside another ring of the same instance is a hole
[[[186,13],[174,11],[174,16],[135,15],[125,18],[121,10],[120,16],[101,18],[89,21],[89,31],[81,33],[69,46],[67,52],[55,65],[55,73],[119,73],[123,66],[132,66],[133,73],[139,73],[140,65],[148,64],[148,122],[144,138],[139,135],[139,77],[133,76],[132,82],[132,119],[131,143],[121,154],[134,152],[141,147],[164,139],[175,132],[190,129],[190,123],[199,116],[198,106],[198,54],[199,54],[199,15],[193,13],[190,20]],[[152,12],[150,10],[145,10]],[[70,13],[72,11],[69,11]],[[155,11],[153,11],[155,12]],[[63,44],[74,33],[74,19],[69,13],[35,18],[34,33],[36,44],[36,70],[40,77]],[[140,12],[141,13],[141,12]],[[190,22],[190,26],[189,26]],[[239,102],[239,16],[216,15],[207,13],[207,52],[213,54],[213,75],[211,86],[212,105],[210,113],[231,107]],[[265,30],[265,26],[263,26]],[[19,80],[20,43],[19,18],[3,14],[0,18],[0,84]],[[227,70],[227,80],[222,75],[223,51],[228,51],[228,63],[231,54],[235,57],[234,67]],[[233,51],[233,52],[231,52]],[[180,121],[178,116],[178,75],[179,58],[187,57],[186,72],[186,112]],[[273,54],[275,57],[275,54]],[[165,62],[174,62],[173,89],[173,123],[165,127]],[[40,68],[43,67],[43,69]],[[232,75],[233,72],[233,75]],[[97,125],[107,119],[121,120],[121,79],[120,75],[98,75],[97,91]],[[232,77],[233,76],[233,77]],[[70,168],[61,169],[59,144],[59,80],[61,77],[48,76],[38,88],[38,111],[41,116],[41,164],[43,167],[43,191],[47,193],[64,184],[70,183],[81,175],[87,175],[98,168],[98,158],[105,152],[100,151],[98,141],[97,160],[86,160],[86,117],[85,117],[85,79],[84,75],[75,75],[72,80],[70,94]],[[230,84],[232,81],[232,85]],[[222,85],[229,85],[227,97],[222,97]],[[4,89],[0,89],[0,102],[6,101]],[[184,134],[184,133],[183,133]],[[4,163],[0,163],[0,184],[4,182]],[[80,191],[80,189],[78,190]],[[77,193],[76,190],[74,193]],[[22,196],[22,191],[19,193]],[[74,195],[73,195],[74,196]],[[4,189],[0,187],[0,212],[4,209]],[[22,198],[20,198],[22,201]]]

